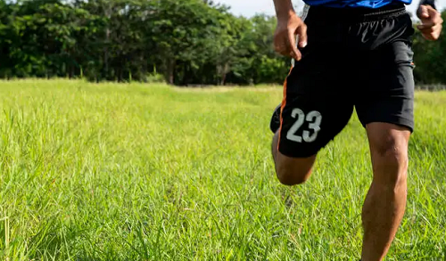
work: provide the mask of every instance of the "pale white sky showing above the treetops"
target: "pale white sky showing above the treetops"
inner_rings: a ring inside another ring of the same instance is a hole
[[[273,0],[215,0],[215,2],[230,6],[231,11],[235,15],[251,17],[252,15],[260,12],[269,15],[275,14]],[[412,0],[412,4],[409,5],[408,10],[415,14],[418,3],[419,0]],[[293,4],[297,6],[297,8],[301,8],[303,6],[302,0],[293,0]],[[446,0],[436,0],[436,4],[440,10],[446,8]]]

